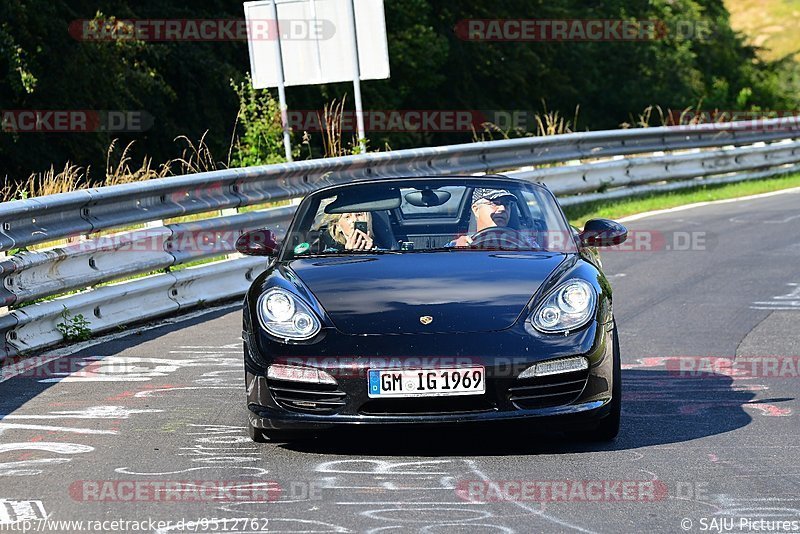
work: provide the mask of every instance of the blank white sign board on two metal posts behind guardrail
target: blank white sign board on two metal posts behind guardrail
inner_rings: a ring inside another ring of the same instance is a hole
[[[286,86],[353,81],[349,2],[355,9],[360,78],[388,78],[383,0],[275,0],[277,24],[272,2],[258,1],[244,4],[253,87],[278,87],[279,57]]]

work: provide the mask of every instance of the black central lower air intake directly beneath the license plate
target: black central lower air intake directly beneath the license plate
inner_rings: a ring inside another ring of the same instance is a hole
[[[495,408],[483,395],[372,399],[365,402],[362,415],[458,415],[491,412]]]

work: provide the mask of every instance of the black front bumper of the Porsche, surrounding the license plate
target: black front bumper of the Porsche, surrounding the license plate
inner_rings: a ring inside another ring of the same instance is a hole
[[[524,326],[491,334],[401,336],[348,336],[331,330],[322,342],[313,345],[284,345],[263,333],[246,331],[245,381],[250,422],[264,430],[324,430],[352,425],[533,419],[546,429],[591,428],[610,409],[613,354],[611,323],[596,322],[569,336],[546,336]],[[586,357],[589,369],[582,376],[565,375],[563,381],[573,384],[569,387],[562,386],[559,377],[548,379],[552,383],[545,386],[530,385],[517,378],[535,363],[570,356]],[[328,388],[324,391],[326,395],[320,397],[330,402],[323,405],[327,408],[287,403],[278,390],[297,388],[287,388],[285,383],[266,378],[266,367],[275,362],[317,367],[333,375],[338,385]],[[470,365],[486,369],[483,395],[376,402],[367,394],[366,376],[370,368]],[[544,400],[515,400],[512,388],[519,389],[520,385],[543,392]],[[567,389],[572,393],[560,393]]]

